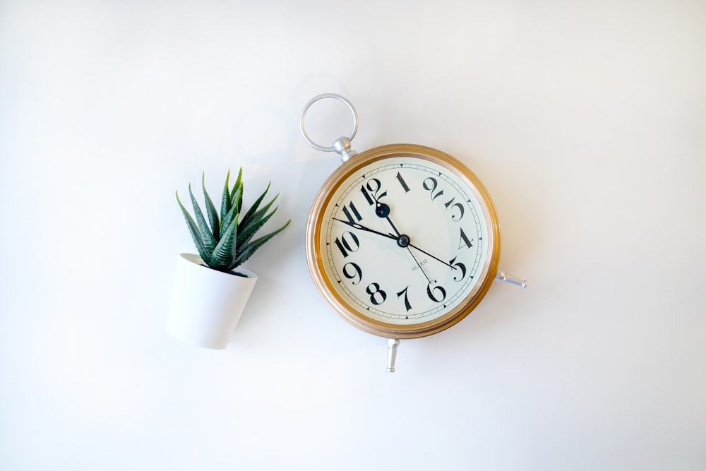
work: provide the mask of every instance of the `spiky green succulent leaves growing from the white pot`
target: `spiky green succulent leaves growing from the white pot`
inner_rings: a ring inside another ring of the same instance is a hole
[[[268,184],[265,191],[253,203],[251,208],[241,217],[241,208],[243,205],[243,169],[241,167],[238,173],[238,179],[231,189],[229,187],[230,170],[225,178],[225,186],[223,188],[223,196],[221,198],[220,215],[213,205],[205,186],[205,172],[201,176],[201,186],[203,187],[203,199],[205,201],[206,215],[208,223],[203,215],[201,207],[198,205],[196,198],[191,192],[191,184],[189,184],[189,196],[191,196],[191,204],[193,205],[193,213],[196,217],[191,217],[189,211],[184,208],[179,200],[179,192],[177,191],[177,201],[181,212],[184,213],[186,225],[189,227],[191,238],[196,245],[198,254],[203,259],[204,263],[210,268],[223,272],[230,272],[237,266],[244,263],[252,254],[255,253],[265,242],[272,239],[276,234],[282,232],[289,225],[287,221],[285,225],[274,232],[252,240],[258,230],[263,227],[265,222],[268,222],[270,217],[275,214],[277,206],[268,213],[270,207],[277,199],[277,194],[272,201],[263,205],[260,208],[265,195],[270,189]]]

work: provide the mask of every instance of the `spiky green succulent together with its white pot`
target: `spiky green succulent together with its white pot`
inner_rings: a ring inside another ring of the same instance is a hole
[[[208,348],[225,348],[237,325],[245,304],[255,286],[257,275],[241,267],[265,242],[281,232],[291,220],[269,234],[253,239],[256,232],[275,214],[270,211],[277,196],[260,207],[265,191],[242,215],[243,169],[230,188],[230,171],[225,179],[220,213],[201,177],[205,216],[189,184],[189,196],[194,217],[177,202],[184,214],[189,233],[196,245],[196,254],[181,254],[172,294],[172,307],[167,323],[167,333],[184,342]],[[269,213],[268,213],[269,211]],[[208,218],[208,222],[207,222]]]

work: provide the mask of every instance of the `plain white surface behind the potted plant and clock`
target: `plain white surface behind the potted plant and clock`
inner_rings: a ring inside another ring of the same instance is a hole
[[[530,280],[395,374],[306,268],[325,92],[471,167]],[[191,347],[174,190],[241,165],[292,225]],[[0,469],[703,470],[705,179],[703,1],[3,1]]]

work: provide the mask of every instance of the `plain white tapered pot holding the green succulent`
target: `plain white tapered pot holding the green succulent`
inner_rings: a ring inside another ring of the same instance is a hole
[[[167,333],[200,347],[227,347],[258,280],[250,270],[234,271],[246,276],[213,270],[198,255],[181,254]]]

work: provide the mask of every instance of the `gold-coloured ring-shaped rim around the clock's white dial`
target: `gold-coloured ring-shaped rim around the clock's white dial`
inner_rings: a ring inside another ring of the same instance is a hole
[[[483,216],[486,220],[488,235],[484,242],[487,246],[488,254],[484,266],[479,275],[478,282],[467,296],[453,309],[447,313],[434,318],[431,321],[424,321],[411,325],[400,325],[385,323],[369,318],[363,314],[353,304],[349,304],[338,294],[334,288],[335,280],[330,280],[323,267],[325,258],[325,247],[322,249],[318,234],[323,227],[323,213],[335,190],[351,174],[357,172],[362,167],[379,160],[390,157],[414,157],[418,159],[434,162],[453,172],[462,181],[465,181],[471,189],[481,206]],[[455,323],[465,318],[481,302],[481,299],[488,292],[493,279],[498,270],[500,261],[500,224],[498,215],[485,186],[480,179],[459,160],[434,148],[416,144],[389,144],[366,150],[363,153],[351,157],[338,167],[333,174],[325,181],[321,190],[314,198],[309,213],[309,220],[306,223],[306,263],[309,265],[311,278],[316,285],[318,292],[325,299],[328,305],[342,317],[345,321],[361,330],[373,335],[380,335],[385,338],[419,338],[426,335],[441,332]]]

